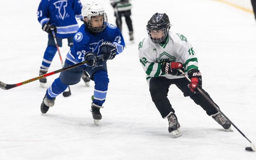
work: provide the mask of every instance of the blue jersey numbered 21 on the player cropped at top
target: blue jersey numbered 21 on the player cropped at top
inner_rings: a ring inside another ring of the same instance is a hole
[[[42,0],[37,19],[42,26],[47,22],[56,26],[57,37],[73,37],[79,28],[76,19],[82,18],[82,7],[79,0]]]

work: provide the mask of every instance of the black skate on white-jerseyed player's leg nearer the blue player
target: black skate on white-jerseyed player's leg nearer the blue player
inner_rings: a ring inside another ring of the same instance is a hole
[[[169,133],[172,133],[175,137],[180,137],[182,135],[182,132],[180,131],[180,123],[178,122],[178,118],[176,117],[176,115],[171,112],[170,116],[168,116],[167,119],[169,122]]]

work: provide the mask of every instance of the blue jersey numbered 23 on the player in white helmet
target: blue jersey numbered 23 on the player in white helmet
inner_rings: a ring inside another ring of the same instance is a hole
[[[100,45],[105,41],[116,45],[116,54],[123,52],[124,38],[115,25],[108,23],[102,32],[91,34],[86,25],[83,24],[73,38],[73,48],[69,50],[66,62],[71,65],[82,62],[84,61],[84,54],[89,51],[99,56],[101,51]]]

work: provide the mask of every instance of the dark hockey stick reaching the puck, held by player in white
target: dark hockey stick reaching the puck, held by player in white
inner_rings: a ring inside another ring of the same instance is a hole
[[[180,73],[181,73],[189,82],[191,82],[191,80],[188,78],[188,76],[187,76],[184,72],[182,72],[181,69],[177,69],[177,70],[180,71]],[[237,130],[239,133],[241,133],[241,134],[244,136],[244,138],[246,138],[246,139],[251,143],[251,148],[250,148],[250,147],[246,147],[245,150],[248,150],[248,151],[252,151],[252,150],[253,150],[253,151],[256,151],[255,145],[244,135],[243,132],[241,132],[241,131],[236,127],[236,125],[235,125],[233,122],[231,122],[231,120],[216,106],[216,104],[213,103],[212,100],[211,100],[210,98],[208,98],[207,95],[205,95],[204,92],[203,92],[199,87],[197,87],[196,89],[201,93],[201,95],[204,96],[205,99],[207,99],[208,102],[210,102],[210,103],[212,104],[212,106],[213,106],[216,110],[218,110],[218,111],[236,128],[236,130]],[[251,149],[251,150],[250,150],[250,149]]]

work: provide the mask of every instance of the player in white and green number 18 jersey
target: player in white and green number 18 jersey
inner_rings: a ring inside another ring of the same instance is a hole
[[[224,129],[231,130],[230,122],[203,95],[198,94],[197,87],[211,99],[202,89],[202,75],[198,70],[197,57],[191,43],[182,34],[173,33],[169,29],[168,16],[165,13],[155,13],[148,21],[148,38],[139,43],[140,64],[147,74],[151,98],[162,118],[168,119],[169,133],[176,137],[182,135],[178,118],[167,98],[172,84],[176,85],[185,97],[189,96],[200,105],[206,114]],[[188,75],[191,82],[177,71],[178,68]]]

